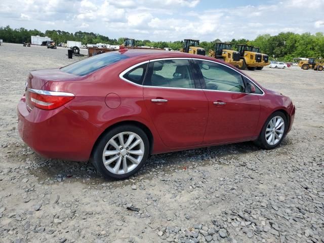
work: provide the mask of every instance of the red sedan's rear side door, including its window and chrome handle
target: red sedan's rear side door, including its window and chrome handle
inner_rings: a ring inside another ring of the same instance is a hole
[[[208,101],[191,59],[160,59],[149,63],[144,102],[164,144],[170,148],[203,143]]]

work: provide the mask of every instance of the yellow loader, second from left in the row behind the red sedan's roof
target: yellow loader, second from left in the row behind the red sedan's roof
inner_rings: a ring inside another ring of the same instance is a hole
[[[232,64],[235,67],[242,65],[239,52],[232,50],[231,43],[216,43],[215,50],[209,50],[208,56],[222,59],[224,62]]]

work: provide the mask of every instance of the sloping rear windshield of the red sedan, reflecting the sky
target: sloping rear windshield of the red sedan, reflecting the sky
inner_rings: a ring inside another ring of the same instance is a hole
[[[104,53],[72,63],[62,67],[60,70],[70,74],[84,76],[126,58],[128,58],[128,56],[117,53]]]

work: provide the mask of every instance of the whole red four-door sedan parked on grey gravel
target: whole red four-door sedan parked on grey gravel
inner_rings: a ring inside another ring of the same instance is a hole
[[[43,156],[90,159],[122,179],[150,154],[242,141],[275,148],[294,115],[290,98],[222,61],[125,49],[31,71],[18,129]]]

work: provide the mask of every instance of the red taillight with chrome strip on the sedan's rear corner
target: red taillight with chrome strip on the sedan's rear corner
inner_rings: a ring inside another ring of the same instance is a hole
[[[28,89],[30,103],[43,110],[53,110],[74,98],[71,93]]]

